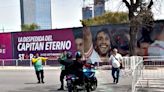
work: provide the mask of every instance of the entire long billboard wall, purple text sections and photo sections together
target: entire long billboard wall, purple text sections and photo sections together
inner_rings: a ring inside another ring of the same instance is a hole
[[[40,56],[55,59],[65,50],[73,54],[78,50],[93,62],[108,62],[111,48],[114,47],[123,56],[129,55],[127,24],[16,32],[12,36],[6,33],[0,34],[0,37],[1,59],[30,59],[36,52]],[[141,27],[135,52],[140,56],[164,56],[163,24],[157,23],[153,29]]]

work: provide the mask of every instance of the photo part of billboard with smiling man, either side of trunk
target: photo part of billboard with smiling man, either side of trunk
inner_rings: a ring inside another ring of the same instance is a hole
[[[93,62],[109,62],[111,48],[117,48],[123,56],[129,55],[129,26],[127,24],[102,25],[73,29],[75,38],[83,38],[85,57]],[[141,27],[137,34],[136,55],[164,56],[164,26]]]

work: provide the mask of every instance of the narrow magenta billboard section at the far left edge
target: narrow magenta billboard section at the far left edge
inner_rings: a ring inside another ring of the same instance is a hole
[[[0,59],[12,59],[11,34],[0,34]]]

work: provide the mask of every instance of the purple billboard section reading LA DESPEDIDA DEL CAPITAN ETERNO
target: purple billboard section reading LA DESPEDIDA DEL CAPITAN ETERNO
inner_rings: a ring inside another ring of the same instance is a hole
[[[13,33],[14,58],[29,59],[34,53],[56,58],[62,51],[75,52],[71,29]]]

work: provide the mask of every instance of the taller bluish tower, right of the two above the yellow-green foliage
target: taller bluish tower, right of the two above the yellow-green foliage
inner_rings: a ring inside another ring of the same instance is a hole
[[[94,0],[94,17],[105,13],[105,0]]]

